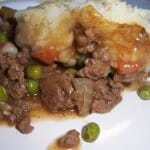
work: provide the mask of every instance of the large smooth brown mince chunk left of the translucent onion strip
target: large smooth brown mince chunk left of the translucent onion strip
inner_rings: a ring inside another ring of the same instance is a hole
[[[71,76],[56,71],[40,81],[41,100],[51,112],[67,110],[74,107],[71,99],[73,87]]]

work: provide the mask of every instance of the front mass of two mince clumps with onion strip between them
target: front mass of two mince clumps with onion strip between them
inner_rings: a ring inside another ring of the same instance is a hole
[[[76,108],[78,115],[110,111],[121,101],[123,84],[112,78],[92,80],[53,72],[41,79],[41,100],[51,112]]]

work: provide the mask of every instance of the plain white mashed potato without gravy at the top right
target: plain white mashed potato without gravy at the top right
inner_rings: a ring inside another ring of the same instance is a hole
[[[150,11],[133,8],[120,0],[93,0],[91,4],[106,19],[118,23],[139,24],[150,33]]]

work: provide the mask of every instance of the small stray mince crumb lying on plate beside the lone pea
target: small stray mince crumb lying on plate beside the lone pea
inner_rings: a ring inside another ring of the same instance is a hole
[[[68,131],[63,137],[59,138],[57,144],[59,147],[74,148],[79,145],[79,132],[75,129]]]

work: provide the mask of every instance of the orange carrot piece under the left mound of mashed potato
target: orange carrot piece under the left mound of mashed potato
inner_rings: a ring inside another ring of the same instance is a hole
[[[47,64],[52,64],[58,58],[58,52],[49,48],[41,48],[32,53],[32,57]]]

